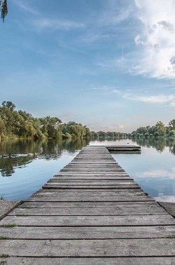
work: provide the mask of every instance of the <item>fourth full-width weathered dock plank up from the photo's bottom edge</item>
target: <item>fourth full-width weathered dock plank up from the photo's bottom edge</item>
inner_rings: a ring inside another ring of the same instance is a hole
[[[0,222],[18,226],[162,226],[173,225],[170,215],[119,216],[6,216]]]

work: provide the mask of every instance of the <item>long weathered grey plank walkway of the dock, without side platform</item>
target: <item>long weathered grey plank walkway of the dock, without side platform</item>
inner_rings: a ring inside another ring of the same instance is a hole
[[[0,264],[175,264],[175,222],[88,146],[0,222]]]

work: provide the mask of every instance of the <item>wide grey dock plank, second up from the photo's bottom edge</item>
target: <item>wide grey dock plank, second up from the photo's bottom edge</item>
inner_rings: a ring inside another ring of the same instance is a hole
[[[175,257],[174,239],[0,240],[14,257]]]

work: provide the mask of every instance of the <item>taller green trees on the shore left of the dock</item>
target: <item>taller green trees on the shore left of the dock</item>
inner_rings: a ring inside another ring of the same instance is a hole
[[[83,138],[91,137],[90,129],[81,123],[62,123],[58,117],[34,118],[15,104],[3,101],[0,106],[0,137],[22,138]]]

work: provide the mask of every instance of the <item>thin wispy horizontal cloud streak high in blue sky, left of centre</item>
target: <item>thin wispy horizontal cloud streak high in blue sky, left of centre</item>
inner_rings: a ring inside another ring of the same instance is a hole
[[[80,29],[85,27],[83,23],[73,22],[71,20],[60,20],[60,19],[52,19],[52,18],[38,18],[33,22],[36,29]]]

